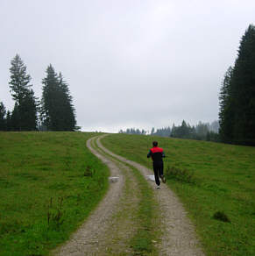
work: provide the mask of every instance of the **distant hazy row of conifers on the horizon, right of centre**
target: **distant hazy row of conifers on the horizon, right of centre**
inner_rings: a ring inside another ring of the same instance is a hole
[[[172,137],[180,139],[198,139],[198,140],[208,140],[208,141],[219,141],[219,123],[214,121],[211,124],[199,122],[196,125],[191,126],[185,120],[182,121],[181,125],[173,124],[172,128],[170,126],[159,128],[155,130],[152,127],[151,132],[139,130],[136,128],[128,128],[125,131],[120,130],[119,133],[127,134],[138,134],[138,135],[157,135],[161,137]]]

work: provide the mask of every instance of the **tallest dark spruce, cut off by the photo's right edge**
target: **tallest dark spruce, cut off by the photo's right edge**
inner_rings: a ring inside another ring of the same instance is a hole
[[[255,26],[241,40],[231,79],[233,142],[255,145]]]

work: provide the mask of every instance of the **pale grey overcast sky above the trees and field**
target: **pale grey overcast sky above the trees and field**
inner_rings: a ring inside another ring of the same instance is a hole
[[[83,131],[211,122],[253,0],[0,0],[0,101],[18,53],[36,96],[52,63]]]

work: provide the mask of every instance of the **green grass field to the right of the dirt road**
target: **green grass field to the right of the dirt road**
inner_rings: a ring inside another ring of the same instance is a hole
[[[206,254],[255,255],[255,148],[125,134],[107,136],[103,145],[152,167],[146,159],[152,140],[165,150],[165,168],[192,174],[192,182],[175,175],[167,185],[188,210]]]

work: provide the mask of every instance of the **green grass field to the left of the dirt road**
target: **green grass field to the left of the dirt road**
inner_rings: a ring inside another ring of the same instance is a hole
[[[108,188],[95,133],[0,132],[0,255],[47,255]]]

